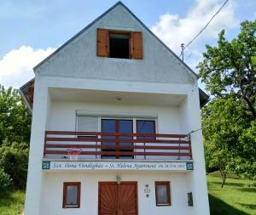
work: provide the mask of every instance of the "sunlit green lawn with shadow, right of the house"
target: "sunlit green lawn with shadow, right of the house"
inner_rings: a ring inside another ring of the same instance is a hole
[[[211,215],[256,215],[256,187],[250,180],[207,176]]]

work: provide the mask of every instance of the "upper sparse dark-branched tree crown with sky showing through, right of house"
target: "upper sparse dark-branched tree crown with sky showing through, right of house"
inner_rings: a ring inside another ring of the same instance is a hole
[[[218,47],[207,47],[198,65],[206,89],[216,98],[232,93],[243,102],[246,117],[256,119],[256,20],[241,23],[241,32],[231,42],[219,33]]]

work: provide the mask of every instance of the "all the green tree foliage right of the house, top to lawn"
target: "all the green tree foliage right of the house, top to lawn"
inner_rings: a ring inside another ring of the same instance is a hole
[[[256,20],[241,23],[231,42],[219,33],[198,65],[212,95],[202,110],[207,167],[253,178],[256,174]]]

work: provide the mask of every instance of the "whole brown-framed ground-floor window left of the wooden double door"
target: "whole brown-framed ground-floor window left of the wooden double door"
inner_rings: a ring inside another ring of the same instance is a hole
[[[63,208],[80,207],[80,182],[65,182],[63,186]]]

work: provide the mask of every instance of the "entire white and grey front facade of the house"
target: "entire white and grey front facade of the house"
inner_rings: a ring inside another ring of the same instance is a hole
[[[142,31],[143,59],[96,57],[99,27]],[[166,163],[189,160],[194,170],[42,169],[42,161],[56,158],[44,156],[45,131],[76,131],[78,115],[98,116],[95,132],[101,132],[102,118],[132,119],[134,127],[136,119],[154,119],[156,133],[188,134],[201,128],[195,74],[122,3],[114,5],[44,60],[35,68],[35,75],[25,215],[96,215],[98,182],[114,182],[117,176],[121,181],[137,182],[139,215],[209,214],[201,130],[191,133],[192,160],[183,157],[181,161],[172,156],[148,161],[154,164],[159,160]],[[98,160],[89,158],[92,162]],[[139,158],[133,161],[141,162]],[[171,183],[171,206],[156,206],[155,181]],[[81,183],[79,208],[62,208],[64,182]],[[150,190],[148,197],[144,192],[146,184]],[[193,207],[188,206],[189,192],[193,194]]]

